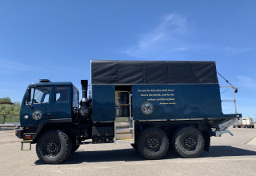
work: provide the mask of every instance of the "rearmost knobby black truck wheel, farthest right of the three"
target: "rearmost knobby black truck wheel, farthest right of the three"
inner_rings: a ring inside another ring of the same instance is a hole
[[[193,127],[178,129],[173,138],[173,147],[183,158],[195,158],[202,154],[204,138],[199,130]]]

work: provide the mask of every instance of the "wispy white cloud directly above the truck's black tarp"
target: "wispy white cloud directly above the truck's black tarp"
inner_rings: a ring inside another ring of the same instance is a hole
[[[142,34],[133,46],[121,52],[137,58],[155,58],[155,56],[183,52],[187,48],[182,38],[187,33],[186,18],[178,14],[169,14],[153,30]]]

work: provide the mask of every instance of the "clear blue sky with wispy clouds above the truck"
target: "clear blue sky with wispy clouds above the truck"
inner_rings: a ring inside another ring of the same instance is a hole
[[[0,98],[39,78],[90,80],[90,59],[214,60],[256,115],[256,1],[0,1]],[[219,78],[222,86],[228,86]],[[231,91],[222,94],[232,98]],[[224,113],[234,113],[231,102]]]

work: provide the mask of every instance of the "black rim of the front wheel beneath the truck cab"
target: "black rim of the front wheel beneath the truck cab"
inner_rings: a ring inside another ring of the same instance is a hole
[[[56,138],[50,138],[45,142],[44,151],[46,155],[56,156],[61,150],[61,144]]]

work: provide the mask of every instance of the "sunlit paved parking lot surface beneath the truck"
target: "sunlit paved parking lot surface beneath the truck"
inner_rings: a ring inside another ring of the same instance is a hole
[[[1,175],[255,175],[256,129],[233,129],[212,137],[210,153],[179,158],[171,150],[160,160],[146,160],[130,145],[80,146],[66,162],[46,165],[38,160],[35,145],[22,151],[14,131],[0,131]]]

